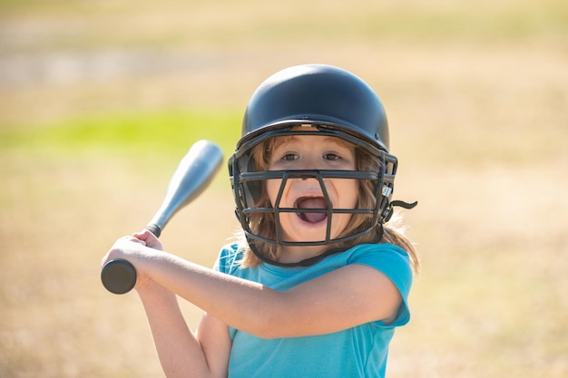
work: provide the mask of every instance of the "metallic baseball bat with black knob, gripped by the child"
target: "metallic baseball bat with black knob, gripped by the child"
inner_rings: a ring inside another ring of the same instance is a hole
[[[195,142],[173,172],[162,206],[146,229],[160,237],[171,217],[207,188],[222,160],[223,153],[215,143]],[[111,260],[104,265],[101,280],[111,293],[125,294],[136,284],[136,269],[126,260]]]

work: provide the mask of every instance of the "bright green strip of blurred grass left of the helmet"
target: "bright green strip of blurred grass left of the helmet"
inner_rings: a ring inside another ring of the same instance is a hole
[[[132,156],[135,151],[179,157],[202,139],[218,143],[230,153],[240,135],[238,113],[162,110],[113,113],[64,119],[41,126],[0,130],[0,149],[43,150],[62,156],[113,153]]]

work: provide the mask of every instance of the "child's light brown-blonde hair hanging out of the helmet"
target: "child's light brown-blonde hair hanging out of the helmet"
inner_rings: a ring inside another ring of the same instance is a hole
[[[286,137],[280,137],[286,138]],[[250,159],[254,161],[255,170],[268,170],[271,151],[274,148],[277,138],[270,138],[254,146],[250,153]],[[339,140],[342,141],[342,140]],[[343,141],[342,141],[343,142]],[[345,141],[348,143],[348,141]],[[372,156],[360,148],[355,149],[357,167],[356,170],[364,171],[380,171],[381,162],[376,157]],[[264,183],[262,184],[264,185]],[[375,207],[375,189],[370,180],[359,180],[359,196],[357,196],[357,208],[374,208]],[[255,206],[257,207],[270,207],[269,196],[267,191],[260,190],[260,199],[257,200]],[[378,244],[388,243],[397,247],[401,247],[406,251],[410,257],[410,265],[417,273],[420,267],[419,258],[416,253],[416,248],[412,242],[405,236],[406,228],[402,227],[402,217],[399,214],[395,215],[389,220],[389,225],[377,223],[370,231],[365,234],[348,239],[341,243],[335,243],[334,248],[348,249],[359,244]],[[348,236],[364,228],[368,228],[371,218],[364,214],[353,214],[349,220],[348,226],[341,232],[338,237]],[[272,213],[253,212],[249,215],[250,230],[262,237],[276,239],[276,222]],[[244,256],[240,262],[241,267],[256,267],[260,264],[260,258],[257,257],[251,250],[250,245],[255,247],[257,252],[271,260],[278,261],[281,253],[282,246],[262,242],[260,240],[247,240],[244,232],[239,234],[240,244],[244,247]]]

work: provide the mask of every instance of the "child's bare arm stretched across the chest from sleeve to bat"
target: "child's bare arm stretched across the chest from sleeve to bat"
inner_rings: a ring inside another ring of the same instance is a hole
[[[375,320],[388,323],[402,301],[387,276],[362,265],[339,268],[281,293],[143,246],[115,245],[113,254],[224,324],[264,338],[326,334]]]

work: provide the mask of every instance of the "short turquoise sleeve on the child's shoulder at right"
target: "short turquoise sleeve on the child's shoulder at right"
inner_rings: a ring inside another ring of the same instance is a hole
[[[406,251],[390,244],[368,245],[352,258],[350,264],[373,267],[387,276],[397,286],[402,296],[402,304],[395,321],[388,325],[379,321],[377,325],[392,327],[406,325],[410,321],[408,295],[412,286],[412,268]]]

